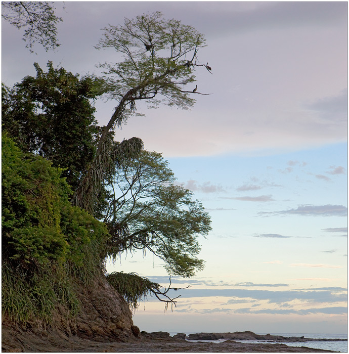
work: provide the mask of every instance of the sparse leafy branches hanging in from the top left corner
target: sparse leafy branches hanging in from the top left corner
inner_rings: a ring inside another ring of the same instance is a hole
[[[45,48],[55,49],[57,42],[56,24],[63,21],[55,15],[52,2],[2,2],[2,18],[18,29],[26,28],[23,40],[31,53],[35,41]]]

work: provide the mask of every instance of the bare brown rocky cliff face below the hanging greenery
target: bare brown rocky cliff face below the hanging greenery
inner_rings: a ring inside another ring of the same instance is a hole
[[[79,283],[76,294],[80,312],[67,319],[67,309],[56,307],[51,325],[33,320],[24,325],[13,324],[6,317],[2,323],[3,351],[73,351],[74,344],[96,342],[128,342],[139,336],[132,313],[125,300],[104,277],[88,287]]]

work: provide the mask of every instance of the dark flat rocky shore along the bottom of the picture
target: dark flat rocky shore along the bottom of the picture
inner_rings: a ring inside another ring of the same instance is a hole
[[[168,332],[142,331],[137,338],[128,341],[93,341],[78,336],[58,336],[57,333],[48,333],[42,336],[31,331],[18,332],[14,340],[6,340],[3,336],[3,352],[335,352],[319,348],[300,345],[312,338],[282,337],[274,335],[257,335],[250,331],[234,333],[198,333],[191,338],[235,337],[232,339],[219,339],[212,342],[208,339],[188,339],[184,333],[170,336]],[[238,339],[240,338],[240,339]],[[249,338],[249,339],[248,339]],[[256,343],[256,338],[265,340]],[[263,338],[267,338],[263,339]],[[315,340],[315,338],[313,338]],[[320,338],[323,341],[332,339]],[[243,340],[243,342],[241,342]],[[277,342],[287,341],[287,344]],[[343,342],[345,341],[344,339]],[[346,343],[346,342],[345,342]],[[298,344],[298,346],[294,346]]]

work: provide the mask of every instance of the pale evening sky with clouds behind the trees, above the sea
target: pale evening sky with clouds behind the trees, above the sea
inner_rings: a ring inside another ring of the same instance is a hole
[[[101,30],[161,11],[206,38],[191,110],[138,105],[116,140],[140,137],[161,152],[177,183],[212,220],[200,237],[205,269],[171,277],[177,307],[149,298],[141,330],[346,333],[347,3],[65,2],[56,4],[61,46],[30,54],[22,32],[2,25],[2,81],[11,86],[51,60],[99,74],[117,60],[96,50]],[[106,124],[116,103],[99,100]],[[135,253],[108,272],[137,272],[168,285],[163,263]]]

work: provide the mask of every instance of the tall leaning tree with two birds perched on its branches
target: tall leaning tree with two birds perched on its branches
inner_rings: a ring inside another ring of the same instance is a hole
[[[94,212],[94,195],[104,180],[97,171],[105,170],[101,156],[108,155],[108,140],[117,127],[132,114],[137,114],[136,102],[145,101],[149,107],[160,103],[189,109],[197,89],[187,86],[195,81],[194,69],[204,67],[197,54],[205,47],[203,34],[178,20],[164,20],[160,12],[125,19],[123,26],[109,25],[97,49],[114,48],[124,60],[117,64],[100,64],[104,68],[105,92],[117,106],[108,124],[103,127],[92,168],[75,192],[76,205]],[[197,86],[196,86],[197,87]],[[189,91],[188,91],[189,90]],[[106,176],[105,176],[106,177]],[[91,189],[94,186],[95,189]]]

